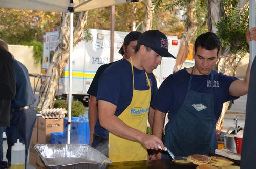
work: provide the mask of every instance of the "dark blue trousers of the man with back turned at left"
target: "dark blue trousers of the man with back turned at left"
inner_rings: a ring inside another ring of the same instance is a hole
[[[11,113],[10,127],[6,128],[8,144],[6,158],[8,159],[8,162],[11,162],[12,145],[17,142],[17,139],[19,139],[20,142],[25,144],[25,164],[27,163],[29,143],[35,121],[36,112],[34,108]]]

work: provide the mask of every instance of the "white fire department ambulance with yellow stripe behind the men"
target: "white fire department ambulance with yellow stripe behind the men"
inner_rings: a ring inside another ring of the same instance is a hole
[[[87,105],[89,96],[87,91],[93,80],[93,77],[99,66],[110,63],[110,31],[89,29],[92,36],[92,41],[81,40],[74,47],[73,54],[73,84],[72,95],[74,99],[82,101]],[[118,53],[123,44],[124,37],[129,32],[115,31],[114,34],[114,61],[122,59],[121,54]],[[45,75],[54,51],[58,45],[58,31],[53,30],[46,32],[44,35],[44,51],[43,51],[43,64],[42,75]],[[177,36],[167,36],[169,41],[169,52],[177,56],[180,40]],[[68,62],[69,63],[69,62]],[[156,78],[161,83],[168,75],[173,73],[175,59],[162,58],[162,64],[155,70]],[[58,90],[56,94],[66,95],[68,93],[68,79],[69,79],[69,65],[67,64],[63,70],[63,74],[59,79]]]

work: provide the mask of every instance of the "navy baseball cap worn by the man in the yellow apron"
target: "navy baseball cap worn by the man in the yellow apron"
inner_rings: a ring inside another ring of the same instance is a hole
[[[172,57],[176,59],[172,54],[168,52],[168,39],[158,30],[149,30],[142,33],[138,40],[139,44],[143,44],[146,47],[150,47],[158,55],[163,57]]]

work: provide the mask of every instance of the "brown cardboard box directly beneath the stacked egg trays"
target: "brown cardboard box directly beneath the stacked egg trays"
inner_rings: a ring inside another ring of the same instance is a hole
[[[51,133],[63,132],[62,119],[38,118],[38,143],[51,143]]]

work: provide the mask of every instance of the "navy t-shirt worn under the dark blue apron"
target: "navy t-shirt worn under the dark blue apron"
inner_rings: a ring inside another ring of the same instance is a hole
[[[214,78],[214,114],[216,120],[218,120],[223,103],[237,99],[229,95],[229,86],[238,78],[223,75],[215,70],[212,70],[212,73]],[[168,119],[170,120],[179,111],[185,100],[189,78],[190,74],[185,68],[169,75],[159,87],[151,106],[163,113],[169,112]],[[190,90],[211,93],[211,74],[193,75]]]

